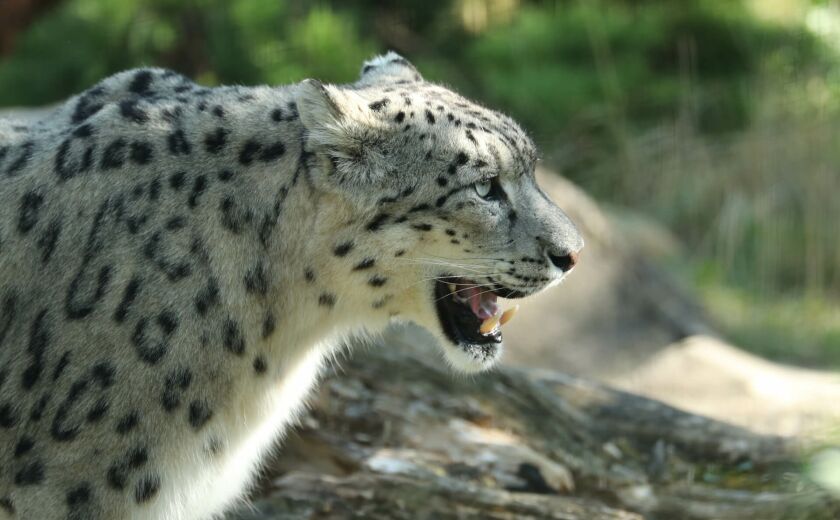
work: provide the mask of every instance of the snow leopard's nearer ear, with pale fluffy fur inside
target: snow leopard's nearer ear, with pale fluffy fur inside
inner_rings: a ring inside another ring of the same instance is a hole
[[[368,186],[389,171],[386,140],[392,133],[358,91],[303,81],[298,112],[306,127],[306,146],[326,155],[329,176],[342,185]]]

